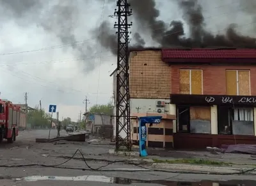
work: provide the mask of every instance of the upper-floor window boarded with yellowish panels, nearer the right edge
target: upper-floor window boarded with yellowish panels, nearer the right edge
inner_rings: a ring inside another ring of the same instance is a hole
[[[250,96],[250,71],[227,70],[226,94],[230,96]]]

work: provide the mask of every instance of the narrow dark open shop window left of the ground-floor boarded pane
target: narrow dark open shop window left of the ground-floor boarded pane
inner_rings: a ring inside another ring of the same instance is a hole
[[[179,132],[190,132],[189,126],[189,106],[178,106],[177,107],[177,129]]]

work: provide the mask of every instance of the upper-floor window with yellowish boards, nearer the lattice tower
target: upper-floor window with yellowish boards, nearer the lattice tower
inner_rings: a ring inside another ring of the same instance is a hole
[[[203,94],[202,69],[180,69],[180,94]]]

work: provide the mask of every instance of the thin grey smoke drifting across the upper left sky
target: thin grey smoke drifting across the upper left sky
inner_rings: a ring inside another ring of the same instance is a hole
[[[55,4],[52,6],[51,3]],[[77,20],[81,17],[79,1],[0,0],[0,6],[6,10],[1,13],[6,19],[13,19],[24,27],[31,25],[42,27],[47,33],[59,38],[63,46],[71,45],[81,60],[92,54],[90,47],[86,48],[82,45],[83,43],[77,43],[75,35],[76,28],[79,26]],[[86,71],[92,71],[95,68],[94,62],[85,60],[83,62]]]

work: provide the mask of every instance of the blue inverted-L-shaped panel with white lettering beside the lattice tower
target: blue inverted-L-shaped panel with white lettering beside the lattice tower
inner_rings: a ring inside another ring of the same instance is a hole
[[[146,124],[159,124],[161,116],[139,117],[139,140],[140,140],[140,156],[147,156],[146,141],[147,141],[147,126]]]

